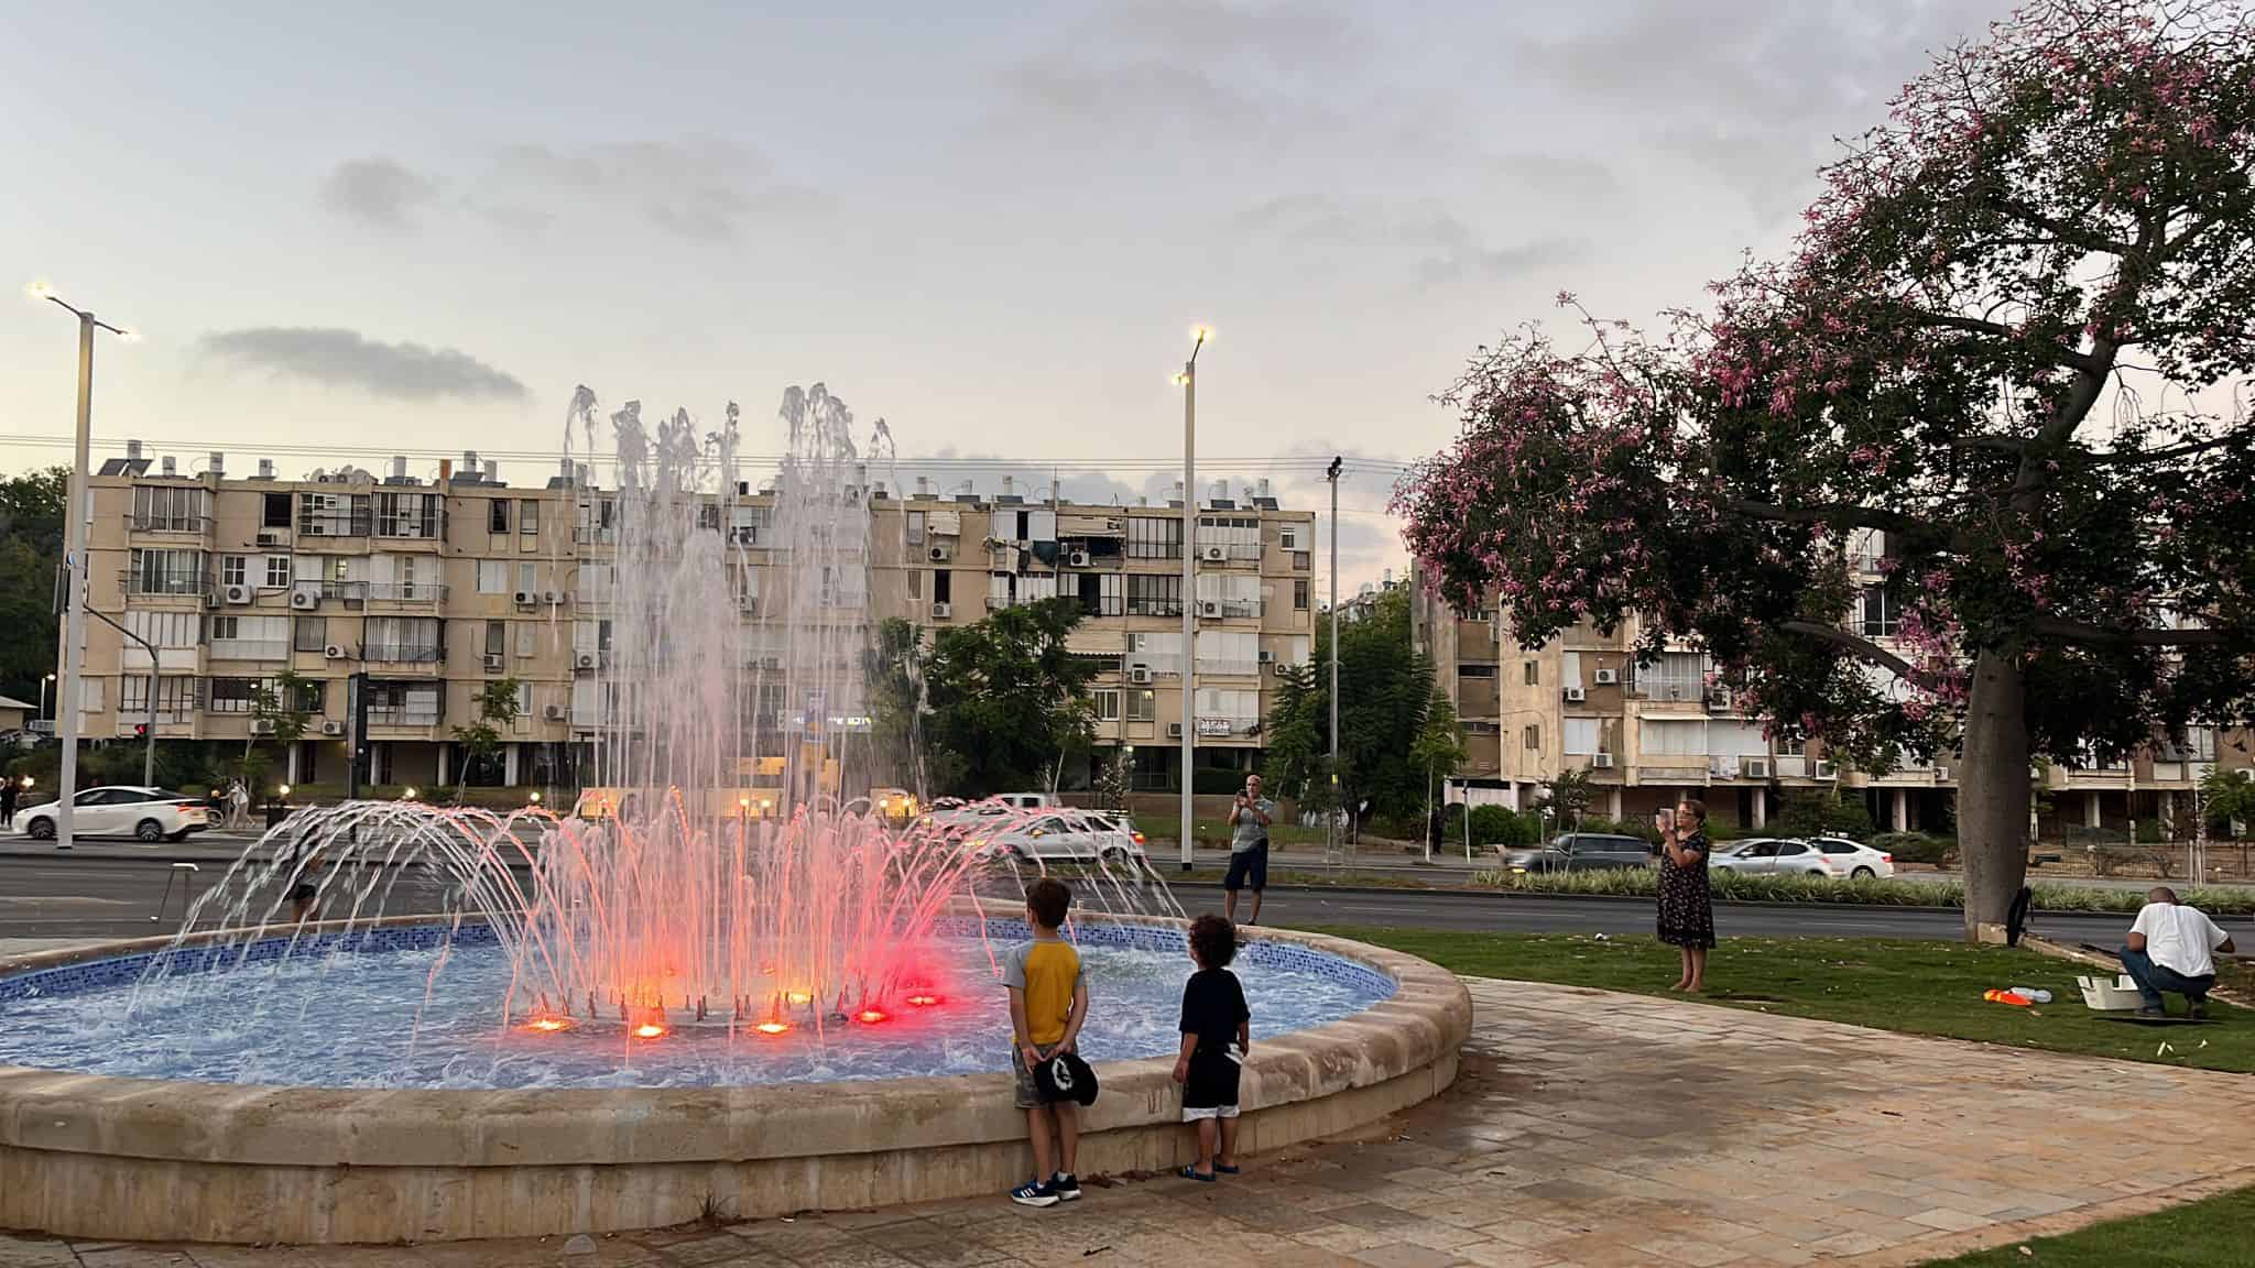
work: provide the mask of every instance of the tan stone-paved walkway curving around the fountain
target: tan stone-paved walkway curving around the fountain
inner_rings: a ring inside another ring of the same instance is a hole
[[[1457,1090],[1222,1185],[415,1248],[63,1245],[0,1268],[1768,1268],[1924,1263],[2255,1185],[2255,1078],[2020,1054],[1567,986],[1473,981]],[[2154,1139],[2185,1171],[2135,1171]]]

